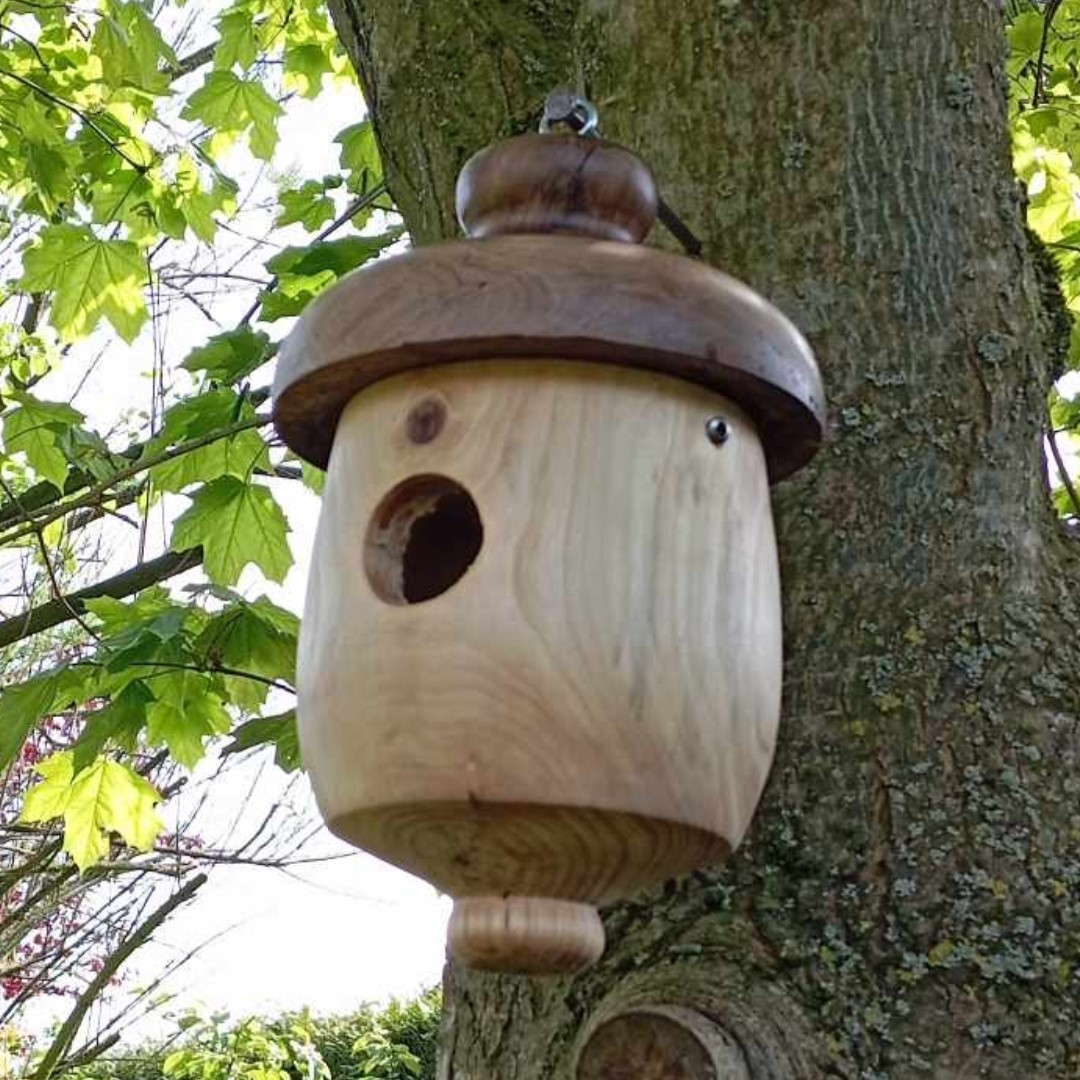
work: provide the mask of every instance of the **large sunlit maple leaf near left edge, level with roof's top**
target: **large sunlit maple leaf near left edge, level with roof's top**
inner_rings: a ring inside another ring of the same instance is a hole
[[[49,318],[65,341],[90,334],[103,318],[134,341],[147,319],[146,264],[126,240],[100,240],[76,225],[51,225],[23,256],[18,287],[52,293]]]

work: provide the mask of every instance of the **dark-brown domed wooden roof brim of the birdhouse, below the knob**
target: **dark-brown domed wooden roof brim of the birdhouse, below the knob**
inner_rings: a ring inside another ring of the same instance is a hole
[[[821,444],[818,365],[775,308],[701,262],[557,235],[420,248],[346,278],[282,345],[274,424],[325,465],[342,409],[365,387],[446,363],[550,356],[660,372],[737,401],[772,481]]]

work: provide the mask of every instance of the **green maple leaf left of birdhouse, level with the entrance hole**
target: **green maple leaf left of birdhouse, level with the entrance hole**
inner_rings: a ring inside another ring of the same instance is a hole
[[[234,584],[248,563],[281,582],[293,565],[288,523],[262,484],[221,476],[201,487],[173,525],[173,551],[200,544],[211,581]]]

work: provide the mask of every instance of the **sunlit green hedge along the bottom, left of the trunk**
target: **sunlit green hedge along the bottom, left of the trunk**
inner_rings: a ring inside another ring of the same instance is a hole
[[[230,1021],[197,1013],[175,1035],[69,1072],[69,1080],[435,1080],[442,997],[429,990],[347,1016]]]

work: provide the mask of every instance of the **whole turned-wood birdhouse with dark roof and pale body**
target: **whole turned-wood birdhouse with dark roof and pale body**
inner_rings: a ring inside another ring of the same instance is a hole
[[[326,468],[300,636],[329,827],[455,899],[467,966],[597,959],[597,905],[723,860],[781,699],[770,482],[823,430],[760,296],[640,244],[649,170],[525,135],[467,234],[356,271],[283,343],[274,422]]]

